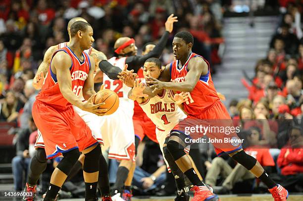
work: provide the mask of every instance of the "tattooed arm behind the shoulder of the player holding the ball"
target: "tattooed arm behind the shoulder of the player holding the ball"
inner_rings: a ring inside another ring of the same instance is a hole
[[[45,52],[43,61],[40,64],[37,73],[33,79],[33,86],[36,90],[41,89],[42,84],[44,82],[44,77],[48,73],[49,67],[50,67],[50,60],[52,57],[52,54],[58,50],[58,45],[50,46],[48,50]]]

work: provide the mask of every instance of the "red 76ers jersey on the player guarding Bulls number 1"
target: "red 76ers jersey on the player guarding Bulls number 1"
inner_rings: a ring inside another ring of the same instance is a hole
[[[208,66],[208,72],[206,75],[201,76],[192,92],[186,92],[189,95],[189,101],[183,103],[184,110],[189,115],[199,115],[205,109],[210,107],[215,102],[219,101],[219,96],[211,80],[209,72],[209,63],[200,55],[191,53],[188,60],[182,66],[179,60],[175,60],[170,64],[171,81],[182,82],[185,81],[185,77],[188,73],[188,63],[194,57],[201,57]],[[181,91],[178,91],[180,93]]]

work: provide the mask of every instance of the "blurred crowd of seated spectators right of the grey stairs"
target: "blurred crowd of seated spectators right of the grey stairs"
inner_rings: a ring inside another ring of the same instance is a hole
[[[249,95],[247,99],[231,100],[229,111],[236,126],[241,126],[240,136],[247,141],[246,150],[252,153],[269,169],[274,180],[278,181],[289,191],[302,192],[303,186],[303,35],[302,35],[302,4],[296,0],[280,0],[279,23],[277,30],[268,41],[268,52],[264,59],[256,61],[255,76],[246,77],[242,83]],[[253,131],[252,131],[253,129]],[[256,144],[252,143],[254,132],[259,133]],[[243,136],[243,134],[245,136]],[[257,145],[257,147],[255,146]],[[260,154],[266,155],[259,158]],[[252,155],[253,156],[253,155]],[[269,164],[269,161],[274,163]],[[232,169],[222,159],[213,160],[216,166],[213,175],[206,175],[206,183],[216,184],[214,178],[221,173],[224,179],[215,187],[217,193],[234,193],[239,190],[235,181],[250,184],[250,175],[239,171],[237,165]],[[233,164],[234,165],[234,164]],[[226,170],[228,169],[228,170]],[[233,171],[237,169],[237,174]],[[221,171],[219,171],[221,170]],[[229,173],[231,172],[231,173]],[[242,176],[242,178],[240,178]],[[207,180],[208,179],[208,180]],[[256,190],[251,182],[251,189]],[[258,189],[260,190],[260,189]],[[238,192],[237,192],[238,193]]]

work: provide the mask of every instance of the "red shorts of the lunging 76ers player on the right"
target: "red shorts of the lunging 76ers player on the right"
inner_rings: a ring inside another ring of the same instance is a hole
[[[242,149],[241,140],[237,135],[239,128],[234,127],[226,107],[221,101],[214,103],[199,115],[188,115],[180,121],[172,131],[184,133],[187,144],[211,142],[215,148],[217,156],[224,152],[231,154]],[[208,139],[202,141],[202,137]],[[197,141],[198,140],[198,141]]]

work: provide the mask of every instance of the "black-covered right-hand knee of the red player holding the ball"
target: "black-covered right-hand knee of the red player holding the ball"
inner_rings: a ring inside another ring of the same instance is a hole
[[[101,156],[101,147],[97,146],[95,149],[85,154],[83,164],[83,171],[93,173],[99,171],[99,160]],[[98,161],[98,162],[97,162]]]

